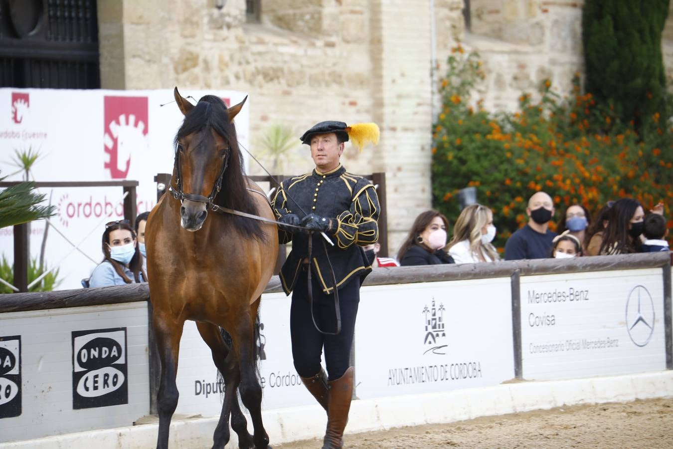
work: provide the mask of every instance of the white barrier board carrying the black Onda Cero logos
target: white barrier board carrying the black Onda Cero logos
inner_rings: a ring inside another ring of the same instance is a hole
[[[145,302],[0,314],[0,358],[0,442],[149,414]]]

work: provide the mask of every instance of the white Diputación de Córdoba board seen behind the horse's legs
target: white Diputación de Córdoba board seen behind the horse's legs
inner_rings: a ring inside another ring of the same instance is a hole
[[[290,304],[291,299],[285,293],[262,295],[260,338],[257,341],[262,410],[316,403],[292,362]],[[180,391],[176,413],[219,415],[222,409],[219,392],[223,386],[217,383],[211,351],[193,321],[184,324],[176,382]]]

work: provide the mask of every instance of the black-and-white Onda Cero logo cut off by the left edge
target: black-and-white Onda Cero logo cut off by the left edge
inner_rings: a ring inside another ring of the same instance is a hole
[[[0,418],[21,415],[21,337],[0,337]]]

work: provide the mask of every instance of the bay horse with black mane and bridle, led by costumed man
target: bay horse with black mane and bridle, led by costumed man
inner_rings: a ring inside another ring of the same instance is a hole
[[[240,448],[267,448],[254,329],[276,261],[277,227],[229,213],[209,214],[219,206],[275,219],[264,192],[244,174],[233,120],[247,97],[227,108],[216,96],[203,96],[196,106],[178,88],[174,96],[184,120],[174,141],[170,191],[149,214],[145,234],[152,324],[162,366],[157,448],[168,448],[178,405],[176,374],[185,320],[197,323],[225,382],[213,448],[229,441],[229,415]],[[231,337],[230,345],[220,329]],[[250,411],[254,436],[248,433],[237,388]]]

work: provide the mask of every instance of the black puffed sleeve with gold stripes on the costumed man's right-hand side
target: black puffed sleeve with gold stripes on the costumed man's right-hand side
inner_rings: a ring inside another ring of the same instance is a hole
[[[352,244],[366,246],[378,240],[378,216],[380,205],[376,188],[368,180],[355,184],[356,190],[351,207],[336,217],[338,222],[334,237],[339,248]]]

